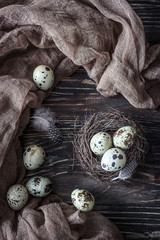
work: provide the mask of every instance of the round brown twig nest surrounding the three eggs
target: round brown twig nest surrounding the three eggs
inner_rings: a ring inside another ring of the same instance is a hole
[[[101,157],[96,156],[90,150],[90,140],[94,134],[101,131],[107,132],[113,137],[114,132],[124,126],[132,126],[136,130],[134,144],[125,151],[127,157],[125,167],[117,172],[107,172],[101,167]],[[135,168],[144,163],[148,151],[143,127],[118,111],[99,112],[90,116],[83,127],[75,133],[73,147],[75,158],[85,172],[107,185],[111,181],[117,182],[131,177]]]

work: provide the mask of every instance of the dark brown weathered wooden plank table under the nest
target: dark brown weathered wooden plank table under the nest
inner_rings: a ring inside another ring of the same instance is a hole
[[[160,1],[129,1],[142,18],[148,41],[160,43]],[[29,124],[22,137],[22,146],[40,144],[47,159],[38,174],[49,177],[54,191],[71,204],[70,194],[75,188],[87,189],[96,198],[95,211],[113,221],[125,239],[160,239],[160,108],[141,110],[131,106],[123,96],[104,98],[96,91],[94,82],[83,68],[63,79],[43,102],[44,107],[57,114],[64,141],[53,146],[48,135],[38,133]],[[108,107],[118,109],[139,121],[147,134],[150,150],[143,167],[127,181],[106,186],[85,174],[79,165],[73,165],[72,140],[74,124],[81,127],[86,116]],[[118,239],[117,239],[118,240]]]

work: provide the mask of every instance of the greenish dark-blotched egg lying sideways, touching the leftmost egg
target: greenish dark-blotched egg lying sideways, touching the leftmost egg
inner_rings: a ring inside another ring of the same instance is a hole
[[[35,176],[26,183],[26,188],[35,197],[45,197],[52,191],[52,183],[46,177]]]

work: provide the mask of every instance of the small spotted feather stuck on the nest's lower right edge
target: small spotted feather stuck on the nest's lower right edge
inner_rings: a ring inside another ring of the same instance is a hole
[[[125,180],[125,179],[128,179],[132,176],[134,170],[136,169],[136,167],[138,166],[138,163],[133,160],[132,162],[130,162],[126,167],[124,167],[120,172],[119,172],[119,175],[118,177],[116,178],[113,178],[112,181],[115,181],[115,180]]]

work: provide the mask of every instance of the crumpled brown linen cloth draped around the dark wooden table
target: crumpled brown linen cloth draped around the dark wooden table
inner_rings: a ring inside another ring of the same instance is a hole
[[[145,44],[142,23],[124,0],[0,0],[0,49],[0,239],[120,240],[98,213],[80,213],[52,195],[15,213],[6,192],[24,178],[18,137],[30,108],[49,94],[32,82],[37,65],[52,67],[56,82],[82,65],[104,96],[120,92],[136,107],[155,108],[160,46]]]

